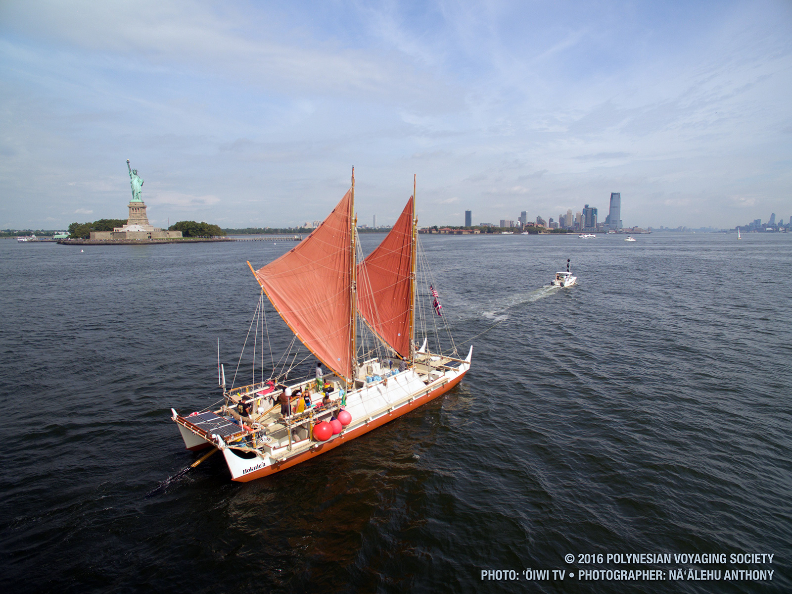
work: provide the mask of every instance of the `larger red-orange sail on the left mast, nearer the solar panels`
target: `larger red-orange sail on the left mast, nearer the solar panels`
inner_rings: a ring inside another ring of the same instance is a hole
[[[352,192],[299,246],[253,272],[303,345],[347,379],[352,377],[354,328]]]

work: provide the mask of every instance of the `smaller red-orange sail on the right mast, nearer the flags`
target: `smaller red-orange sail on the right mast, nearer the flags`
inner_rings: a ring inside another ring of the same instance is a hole
[[[412,340],[414,200],[383,242],[357,265],[357,310],[394,351],[409,357]]]

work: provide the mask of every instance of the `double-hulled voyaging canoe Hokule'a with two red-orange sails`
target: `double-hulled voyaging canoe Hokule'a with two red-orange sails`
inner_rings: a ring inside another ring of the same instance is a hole
[[[450,350],[440,348],[437,324],[445,318],[436,287],[426,287],[431,307],[418,303],[418,265],[425,261],[417,238],[413,177],[413,196],[402,215],[362,257],[353,168],[351,188],[306,239],[261,268],[248,262],[261,286],[253,320],[262,328],[260,344],[266,297],[310,352],[304,360],[315,358],[326,369],[289,377],[297,356],[290,363],[290,350],[280,371],[273,358],[264,379],[262,352],[259,381],[254,363],[252,383],[235,387],[232,380],[227,388],[219,365],[222,406],[187,415],[171,409],[185,447],[222,451],[231,478],[247,482],[324,454],[456,386],[470,369],[473,347],[460,358],[448,333]],[[420,348],[417,320],[423,322]],[[428,326],[435,326],[435,351],[427,348]]]

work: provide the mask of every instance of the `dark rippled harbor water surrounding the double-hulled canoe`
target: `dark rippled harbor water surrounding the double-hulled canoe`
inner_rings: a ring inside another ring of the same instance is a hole
[[[637,239],[421,236],[474,345],[463,383],[245,484],[220,455],[180,474],[198,455],[170,409],[219,399],[217,340],[230,380],[259,298],[246,261],[294,244],[0,242],[0,586],[792,591],[792,234]],[[577,286],[550,287],[568,257]],[[277,361],[292,335],[267,325]],[[672,562],[607,562],[642,553]]]

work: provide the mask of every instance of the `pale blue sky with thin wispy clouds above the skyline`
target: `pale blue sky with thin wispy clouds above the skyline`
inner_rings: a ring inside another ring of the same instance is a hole
[[[790,2],[0,3],[0,228],[792,216]]]

